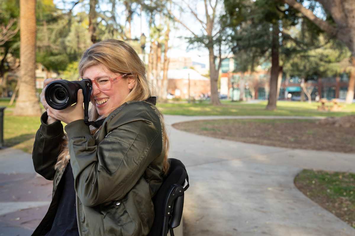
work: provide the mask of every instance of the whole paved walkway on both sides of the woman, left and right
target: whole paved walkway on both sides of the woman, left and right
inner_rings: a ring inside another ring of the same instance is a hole
[[[245,144],[171,127],[216,118],[241,117],[165,116],[170,157],[181,159],[190,176],[185,236],[355,235],[293,184],[302,168],[355,172],[353,154]],[[28,153],[6,148],[0,160],[0,236],[31,235],[47,211],[51,181],[35,174]]]

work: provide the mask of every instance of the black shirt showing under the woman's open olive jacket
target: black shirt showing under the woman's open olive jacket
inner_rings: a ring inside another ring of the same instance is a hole
[[[53,225],[46,236],[78,236],[74,176],[70,162],[67,164],[59,184],[62,185],[62,192],[58,209]]]

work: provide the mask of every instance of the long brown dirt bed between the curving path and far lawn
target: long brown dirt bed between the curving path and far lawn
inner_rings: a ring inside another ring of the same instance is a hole
[[[354,118],[355,119],[355,118]],[[355,153],[355,127],[300,119],[221,119],[182,122],[174,128],[238,142]]]

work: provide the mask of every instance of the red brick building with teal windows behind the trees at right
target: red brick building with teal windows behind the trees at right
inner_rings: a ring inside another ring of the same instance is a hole
[[[233,94],[239,95],[239,83],[241,78],[244,78],[246,97],[255,99],[268,98],[270,80],[268,65],[258,66],[256,72],[244,74],[232,72],[235,68],[236,65],[233,58],[226,58],[222,61],[220,94],[228,95],[229,98],[233,97]],[[308,81],[308,85],[313,87],[312,99],[315,99],[317,94],[320,95],[320,98],[327,98],[328,100],[335,98],[345,99],[348,84],[349,74],[347,73]],[[234,87],[234,90],[232,87]],[[232,91],[234,92],[232,93]],[[299,99],[301,96],[301,78],[295,76],[286,78],[285,74],[283,75],[278,99],[287,99],[288,94],[291,94],[295,99]]]

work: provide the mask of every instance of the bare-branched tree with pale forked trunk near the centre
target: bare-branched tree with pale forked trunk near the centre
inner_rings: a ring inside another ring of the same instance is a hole
[[[184,4],[189,9],[191,15],[196,18],[196,20],[202,26],[202,35],[198,35],[197,32],[192,30],[187,24],[185,24],[181,19],[176,17],[171,11],[169,13],[173,16],[174,20],[180,23],[184,28],[189,30],[193,35],[188,39],[190,45],[197,44],[198,47],[205,47],[209,54],[209,70],[211,79],[211,103],[213,105],[220,105],[218,98],[218,75],[219,69],[221,67],[223,57],[222,57],[222,47],[225,45],[226,27],[219,22],[218,8],[221,3],[220,0],[215,0],[214,4],[212,0],[204,0],[204,17],[205,20],[200,19],[196,9],[194,10],[191,4],[182,0]],[[196,7],[195,7],[196,8]],[[229,51],[228,51],[229,52]],[[217,64],[216,64],[217,63]]]

